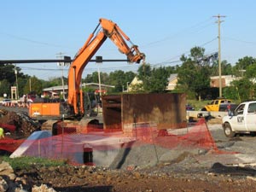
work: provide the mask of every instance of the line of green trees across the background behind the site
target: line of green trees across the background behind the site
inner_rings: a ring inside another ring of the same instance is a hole
[[[214,99],[218,97],[218,88],[210,87],[210,77],[218,76],[218,54],[206,55],[205,49],[194,47],[189,55],[180,57],[181,64],[172,67],[152,67],[150,63],[141,65],[137,73],[116,70],[111,73],[100,73],[101,83],[113,85],[108,94],[118,94],[127,90],[128,83],[137,77],[143,84],[132,87],[132,92],[167,92],[166,86],[171,74],[177,73],[177,86],[172,92],[186,93],[189,99]],[[15,70],[17,73],[15,73]],[[245,56],[232,66],[228,61],[221,63],[222,75],[237,77],[229,87],[223,88],[223,95],[227,98],[246,101],[255,99],[256,88],[256,59]],[[17,79],[19,79],[17,81]],[[33,92],[42,94],[47,87],[61,85],[61,77],[49,80],[38,79],[22,73],[20,67],[13,64],[0,66],[0,96],[7,94],[10,97],[10,87],[18,82],[19,96]],[[64,78],[67,84],[67,78]],[[88,74],[82,83],[98,83],[98,72]],[[90,91],[90,90],[87,90]]]

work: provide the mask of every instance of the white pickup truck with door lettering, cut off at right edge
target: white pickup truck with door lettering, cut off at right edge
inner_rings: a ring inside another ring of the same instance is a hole
[[[226,137],[235,137],[237,133],[256,133],[256,101],[239,104],[234,112],[224,116],[222,126]]]

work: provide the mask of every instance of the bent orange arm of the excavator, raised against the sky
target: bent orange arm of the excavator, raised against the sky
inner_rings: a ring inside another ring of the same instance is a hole
[[[67,102],[73,107],[75,114],[84,115],[84,103],[83,93],[81,88],[81,79],[84,67],[90,61],[96,51],[100,49],[102,44],[107,38],[113,41],[119,51],[125,54],[129,61],[140,63],[144,61],[145,55],[139,51],[137,45],[131,43],[130,38],[125,35],[119,26],[111,20],[100,19],[99,24],[96,26],[94,32],[90,34],[90,37],[85,42],[84,46],[79,49],[79,52],[75,56],[71,67],[68,72],[68,99]],[[96,33],[99,26],[102,29]],[[132,45],[129,47],[126,44],[129,41]]]

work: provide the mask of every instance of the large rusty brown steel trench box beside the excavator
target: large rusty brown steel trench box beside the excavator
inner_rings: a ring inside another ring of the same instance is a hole
[[[158,130],[186,126],[186,95],[182,93],[102,96],[103,128],[154,125]]]

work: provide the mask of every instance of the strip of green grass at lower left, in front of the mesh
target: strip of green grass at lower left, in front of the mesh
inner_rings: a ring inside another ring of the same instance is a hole
[[[29,166],[64,166],[67,165],[66,160],[49,160],[39,157],[16,157],[2,156],[2,160],[9,162],[14,170],[24,169]]]

